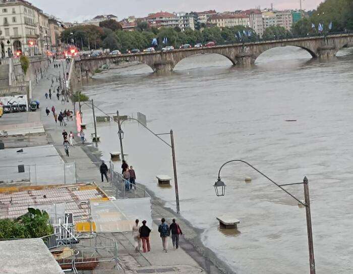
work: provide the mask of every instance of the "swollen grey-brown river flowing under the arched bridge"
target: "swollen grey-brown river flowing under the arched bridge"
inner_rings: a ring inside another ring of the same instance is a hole
[[[247,160],[281,184],[307,176],[317,273],[352,273],[353,49],[323,62],[296,47],[275,48],[252,68],[204,54],[166,76],[145,65],[111,70],[84,92],[107,113],[141,112],[156,133],[174,131],[181,214],[235,272],[308,273],[309,259],[305,209],[264,177],[231,163],[221,173],[225,196],[215,196],[218,169],[230,159]],[[137,181],[175,209],[173,188],[155,179],[172,177],[170,149],[135,122],[123,129]],[[116,132],[114,123],[98,124],[107,160],[120,150]],[[287,190],[304,200],[302,185]],[[238,232],[220,231],[219,215],[238,218]]]

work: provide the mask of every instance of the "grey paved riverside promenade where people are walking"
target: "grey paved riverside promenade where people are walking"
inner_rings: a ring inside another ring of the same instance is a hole
[[[63,74],[63,67],[54,69],[53,64],[63,64],[61,61],[54,61],[46,75],[58,75],[59,71]],[[62,65],[63,66],[63,65]],[[64,63],[65,74],[68,71]],[[48,91],[51,85],[50,80],[47,77],[38,83],[34,88],[34,97],[40,100],[40,120],[43,123],[45,133],[48,139],[48,143],[52,144],[58,153],[62,156],[65,162],[76,162],[76,174],[77,182],[96,182],[108,196],[114,196],[115,190],[111,188],[110,184],[100,183],[100,174],[98,165],[94,162],[99,161],[100,152],[94,148],[90,143],[82,145],[80,143],[78,132],[76,128],[76,121],[67,122],[68,126],[60,126],[59,123],[55,124],[53,115],[46,116],[45,107],[51,109],[55,107],[56,112],[59,113],[61,110],[70,109],[73,111],[73,104],[71,102],[65,102],[62,104],[61,100],[56,99],[56,93],[52,94],[52,99],[45,99],[45,92]],[[54,86],[56,84],[54,83]],[[75,134],[76,142],[74,146],[70,147],[70,157],[65,155],[63,147],[63,130],[68,133],[73,131]],[[49,171],[48,171],[49,172]],[[119,197],[116,197],[119,198]],[[133,246],[132,233],[113,233],[108,234],[107,237],[114,237],[119,245],[120,260],[125,270],[125,273],[221,273],[215,264],[211,261],[216,261],[215,256],[211,251],[203,248],[199,240],[199,232],[190,226],[185,220],[179,218],[171,210],[163,207],[163,201],[157,198],[152,198],[152,218],[154,221],[153,231],[150,236],[151,241],[151,252],[142,253],[136,252]],[[169,252],[164,253],[162,250],[162,243],[159,237],[157,224],[160,223],[161,217],[165,217],[167,223],[171,223],[172,218],[177,218],[177,222],[180,224],[184,236],[181,238],[180,249],[173,250],[171,244],[171,238],[169,242]],[[142,221],[142,220],[141,220]],[[184,238],[185,237],[185,238]],[[192,244],[191,244],[192,243]],[[195,246],[199,246],[198,250]],[[224,269],[224,272],[230,273],[231,271],[226,270],[226,266],[222,263],[217,263],[217,266]],[[100,265],[94,273],[120,273],[112,269],[112,265]]]

